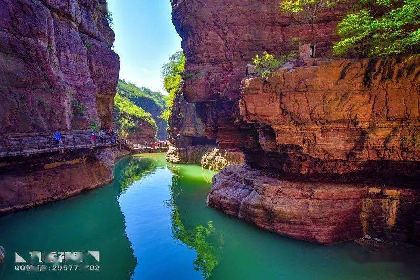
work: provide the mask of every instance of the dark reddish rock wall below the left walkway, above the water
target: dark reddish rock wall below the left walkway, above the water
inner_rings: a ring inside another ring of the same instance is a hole
[[[111,149],[4,163],[0,170],[0,213],[64,199],[114,179]]]

